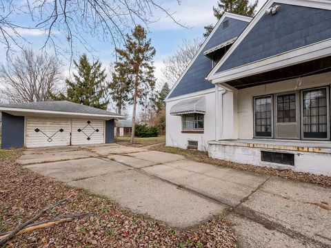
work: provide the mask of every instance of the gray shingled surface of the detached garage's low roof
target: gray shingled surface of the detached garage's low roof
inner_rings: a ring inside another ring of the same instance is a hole
[[[51,112],[66,112],[73,114],[99,114],[104,116],[119,116],[120,114],[112,113],[106,110],[99,110],[95,107],[90,107],[78,103],[71,103],[70,101],[45,101],[37,103],[18,103],[0,105],[0,109],[13,108],[23,110],[41,110]]]

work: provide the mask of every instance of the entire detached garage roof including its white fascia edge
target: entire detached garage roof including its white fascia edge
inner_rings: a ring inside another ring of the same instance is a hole
[[[90,107],[70,101],[43,101],[37,103],[17,103],[0,105],[0,111],[17,111],[17,112],[36,112],[43,114],[74,114],[74,115],[91,115],[100,117],[122,118],[120,114],[112,113],[107,110],[100,110],[96,107]]]

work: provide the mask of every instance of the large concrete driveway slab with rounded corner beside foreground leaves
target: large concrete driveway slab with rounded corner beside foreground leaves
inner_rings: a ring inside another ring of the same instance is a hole
[[[147,214],[178,228],[192,227],[226,209],[225,205],[214,203],[135,170],[72,181],[68,184],[108,196],[137,214]]]

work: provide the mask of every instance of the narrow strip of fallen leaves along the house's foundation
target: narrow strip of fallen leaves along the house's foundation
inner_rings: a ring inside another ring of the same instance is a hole
[[[217,165],[222,167],[230,167],[232,169],[241,169],[244,171],[255,172],[258,174],[265,174],[269,176],[278,176],[280,178],[297,180],[303,183],[313,183],[322,186],[331,186],[331,177],[323,175],[314,175],[303,172],[294,172],[291,169],[273,169],[270,167],[259,167],[254,165],[245,165],[240,163],[233,163],[230,161],[222,161],[215,158],[210,158],[208,152],[201,152],[197,150],[181,149],[177,147],[167,147],[165,145],[155,145],[150,147],[160,152],[169,152],[172,154],[180,154],[186,156],[194,161],[200,163],[208,163],[210,165]]]

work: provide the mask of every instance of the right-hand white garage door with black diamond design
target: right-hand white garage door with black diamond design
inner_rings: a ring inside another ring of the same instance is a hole
[[[91,119],[72,119],[72,145],[104,143],[105,121]]]

